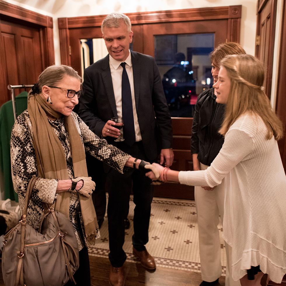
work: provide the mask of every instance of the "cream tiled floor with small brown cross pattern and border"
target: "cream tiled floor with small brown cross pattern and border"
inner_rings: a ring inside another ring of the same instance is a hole
[[[130,229],[125,232],[124,251],[127,261],[138,262],[132,254],[133,210],[134,203],[130,198],[128,219]],[[222,234],[222,225],[218,226]],[[100,229],[101,238],[89,250],[90,255],[108,257],[107,218]],[[225,275],[226,255],[221,237],[222,275]],[[156,265],[161,267],[200,272],[198,245],[198,226],[196,205],[191,200],[154,198],[152,202],[148,252],[155,258]]]

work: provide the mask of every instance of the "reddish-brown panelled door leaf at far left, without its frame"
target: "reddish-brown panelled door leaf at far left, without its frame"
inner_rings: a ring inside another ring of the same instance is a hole
[[[1,105],[11,99],[8,84],[35,83],[44,69],[44,63],[39,29],[8,21],[1,21],[0,29],[2,64],[6,70],[6,80],[1,83],[2,90],[5,90],[0,97]],[[20,91],[22,90],[15,90],[15,94]]]

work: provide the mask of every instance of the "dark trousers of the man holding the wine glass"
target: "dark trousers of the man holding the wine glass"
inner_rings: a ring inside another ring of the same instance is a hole
[[[135,158],[147,160],[142,142],[136,142],[131,147],[121,142],[117,147]],[[131,168],[124,174],[113,169],[107,174],[109,260],[114,267],[121,267],[126,260],[126,254],[122,247],[125,236],[124,219],[126,210],[129,209],[131,190],[135,203],[133,246],[138,251],[145,250],[144,245],[148,242],[151,202],[154,194],[150,184],[151,180],[145,176],[145,172]]]

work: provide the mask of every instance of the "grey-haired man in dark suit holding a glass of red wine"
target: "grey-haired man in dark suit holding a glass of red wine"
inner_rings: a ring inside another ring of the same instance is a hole
[[[84,72],[81,118],[98,136],[124,152],[149,162],[156,161],[161,154],[160,163],[172,165],[171,117],[154,58],[129,50],[133,32],[130,19],[124,14],[107,15],[102,22],[102,36],[109,55]],[[121,135],[110,120],[114,116],[123,117],[123,142],[114,142]],[[156,268],[154,258],[144,246],[148,242],[153,189],[142,171],[129,169],[119,174],[105,168],[105,172],[109,193],[109,281],[111,285],[124,285],[124,214],[131,189],[136,205],[133,254],[145,268]]]

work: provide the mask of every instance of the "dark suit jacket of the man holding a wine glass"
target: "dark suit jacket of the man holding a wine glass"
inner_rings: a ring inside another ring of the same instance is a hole
[[[162,148],[172,147],[172,123],[161,76],[153,57],[131,51],[135,103],[142,143],[147,158],[156,160]],[[117,116],[109,67],[109,55],[84,71],[79,116],[100,136],[105,123]],[[155,117],[156,116],[156,117]],[[113,137],[105,137],[116,145]]]

